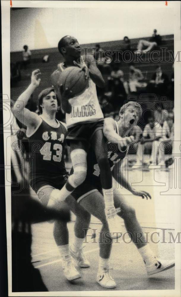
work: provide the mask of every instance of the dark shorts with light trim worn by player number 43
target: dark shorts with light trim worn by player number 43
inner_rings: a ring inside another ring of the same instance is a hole
[[[55,189],[61,190],[63,186],[66,184],[66,181],[68,179],[69,175],[61,175],[61,176],[41,176],[36,177],[35,180],[31,181],[31,187],[34,189],[34,191],[37,192],[39,189],[45,186],[50,186]]]

